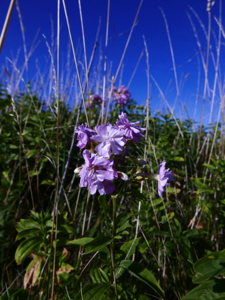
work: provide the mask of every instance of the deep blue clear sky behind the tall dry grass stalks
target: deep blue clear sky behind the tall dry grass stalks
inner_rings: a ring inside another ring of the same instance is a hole
[[[25,39],[27,51],[29,51],[31,43],[34,36],[40,28],[37,41],[39,44],[32,54],[28,62],[28,73],[29,78],[33,78],[36,69],[35,62],[38,62],[38,67],[40,72],[44,72],[46,65],[46,58],[48,57],[48,51],[42,34],[46,36],[48,43],[51,43],[51,22],[50,15],[53,20],[54,37],[56,37],[56,26],[57,26],[57,1],[56,0],[38,0],[38,1],[19,1],[19,8],[22,15],[23,26],[25,29]],[[68,18],[70,22],[70,28],[72,32],[73,41],[75,47],[77,45],[78,39],[82,43],[81,36],[81,26],[80,17],[78,9],[78,1],[65,1]],[[189,12],[193,23],[196,27],[196,31],[203,48],[202,53],[205,55],[206,52],[206,39],[202,28],[199,25],[196,17],[190,11],[188,6],[192,7],[195,12],[199,15],[202,23],[207,30],[208,27],[208,15],[206,12],[207,1],[196,1],[196,0],[144,0],[140,13],[138,16],[138,23],[133,30],[132,37],[130,39],[127,52],[124,58],[124,68],[122,73],[122,84],[127,85],[132,72],[135,68],[137,60],[140,53],[144,47],[143,38],[144,35],[146,39],[146,44],[149,53],[149,71],[150,74],[155,78],[158,85],[160,86],[162,92],[165,94],[168,84],[171,80],[171,84],[168,88],[167,100],[171,106],[173,106],[176,98],[175,89],[175,79],[172,68],[172,59],[169,49],[168,37],[165,29],[165,23],[159,10],[162,8],[167,19],[171,43],[173,47],[174,59],[177,68],[177,79],[180,82],[181,78],[184,78],[189,73],[187,80],[183,79],[184,85],[180,95],[181,104],[186,103],[186,108],[190,117],[193,116],[193,109],[196,97],[197,88],[197,74],[198,74],[198,64],[197,57],[195,56],[189,63],[184,64],[190,58],[192,58],[196,52],[198,52],[198,46],[196,44],[196,39],[193,35],[193,30],[191,28],[190,22],[187,18],[186,12]],[[109,13],[109,40],[108,40],[108,52],[107,52],[107,66],[109,66],[110,61],[112,61],[112,75],[115,74],[118,67],[126,40],[130,28],[132,26],[139,1],[137,0],[113,0],[110,3],[110,13]],[[3,22],[7,13],[9,6],[9,0],[0,1],[0,29],[3,27]],[[87,52],[87,61],[90,59],[92,48],[95,41],[95,35],[98,27],[99,17],[101,17],[101,27],[98,39],[98,48],[96,51],[95,61],[93,63],[93,68],[97,66],[99,49],[101,49],[104,55],[104,44],[105,44],[105,30],[106,30],[106,17],[107,17],[107,1],[106,0],[81,0],[83,24],[84,24],[84,34]],[[225,3],[222,3],[222,10],[225,10]],[[219,17],[219,1],[215,2],[214,7],[211,11],[211,24],[214,35],[218,38],[218,26],[214,21],[213,16],[217,19]],[[223,20],[222,20],[223,23]],[[60,68],[65,66],[67,60],[67,50],[68,50],[68,31],[66,20],[64,16],[62,2],[60,3]],[[123,33],[122,35],[120,35]],[[112,37],[114,38],[112,39]],[[214,53],[216,59],[216,41],[211,33],[211,46],[212,52]],[[221,51],[220,51],[220,67],[221,67],[221,81],[224,78],[224,39],[221,38]],[[8,57],[12,59],[16,56],[16,52],[21,48],[19,53],[19,59],[17,66],[21,66],[24,62],[24,53],[22,48],[22,35],[18,20],[18,14],[14,7],[10,24],[8,27],[7,35],[3,45],[3,49],[0,55],[0,71],[5,66],[5,58]],[[79,48],[80,60],[83,60],[82,49]],[[138,69],[135,73],[133,81],[130,85],[130,93],[133,99],[138,104],[144,104],[147,97],[147,78],[146,78],[146,57],[143,56]],[[199,56],[200,59],[200,56]],[[56,61],[55,61],[56,62]],[[72,56],[71,56],[72,62]],[[183,65],[184,64],[184,65]],[[198,101],[197,119],[199,119],[199,112],[202,105],[202,95],[203,95],[203,84],[204,84],[204,72],[202,68],[202,63],[200,59],[200,98]],[[56,64],[55,64],[56,66]],[[103,62],[102,62],[103,69]],[[94,69],[92,69],[94,70]],[[8,70],[10,74],[10,69]],[[74,71],[74,69],[73,69]],[[24,73],[24,79],[26,76]],[[209,85],[213,88],[214,80],[214,67],[212,60],[209,60]],[[119,82],[116,82],[116,86]],[[152,80],[151,87],[151,109],[165,109],[163,102],[160,100],[158,89]],[[218,91],[216,91],[218,95]],[[219,99],[215,98],[215,102],[218,103]],[[207,114],[209,112],[208,98],[206,98],[206,110],[205,110],[205,120],[207,120]],[[216,116],[215,104],[214,115]],[[178,115],[178,102],[175,103],[175,112]]]

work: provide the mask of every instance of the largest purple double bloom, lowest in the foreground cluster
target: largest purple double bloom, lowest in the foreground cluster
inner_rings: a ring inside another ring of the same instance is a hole
[[[112,169],[113,160],[105,159],[102,156],[84,150],[83,158],[85,164],[79,167],[79,170],[75,170],[75,173],[79,173],[80,186],[87,186],[87,190],[90,189],[90,194],[99,191],[100,195],[109,195],[115,187],[112,184],[112,180],[117,179],[117,173]]]

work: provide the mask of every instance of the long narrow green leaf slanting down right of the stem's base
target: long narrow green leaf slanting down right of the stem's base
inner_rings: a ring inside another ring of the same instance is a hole
[[[143,281],[147,285],[156,291],[163,299],[165,299],[165,295],[159,286],[157,280],[154,275],[140,263],[132,260],[121,260],[118,267],[122,267],[124,270],[128,271],[137,279]]]

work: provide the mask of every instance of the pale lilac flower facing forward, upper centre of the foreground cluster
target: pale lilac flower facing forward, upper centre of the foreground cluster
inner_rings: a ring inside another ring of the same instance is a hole
[[[95,126],[96,135],[91,137],[91,140],[99,142],[100,144],[95,147],[97,153],[103,157],[109,157],[111,153],[121,154],[123,146],[125,145],[124,132],[118,127],[111,126],[107,123],[107,126],[102,124],[101,126]]]

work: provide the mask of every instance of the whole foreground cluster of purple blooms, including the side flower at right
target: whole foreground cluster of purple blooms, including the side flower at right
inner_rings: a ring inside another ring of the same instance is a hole
[[[113,180],[122,179],[129,180],[129,177],[115,168],[121,160],[128,160],[136,165],[145,165],[146,162],[140,158],[127,156],[129,146],[132,142],[138,143],[141,137],[144,137],[142,131],[146,128],[141,128],[140,122],[129,122],[126,113],[121,113],[118,116],[119,120],[116,125],[112,126],[102,124],[95,126],[94,130],[87,127],[87,124],[80,125],[75,132],[77,133],[77,146],[79,148],[86,147],[86,144],[95,144],[95,149],[91,153],[84,150],[82,155],[85,163],[76,168],[74,173],[79,174],[80,186],[90,189],[90,194],[93,195],[98,190],[100,195],[109,195],[115,190],[112,183]],[[161,196],[164,191],[164,186],[168,186],[168,181],[173,181],[173,173],[169,169],[165,169],[165,162],[160,162],[158,167],[159,174],[142,173],[140,169],[136,174],[131,175],[132,180],[150,179],[158,182],[158,195]]]

